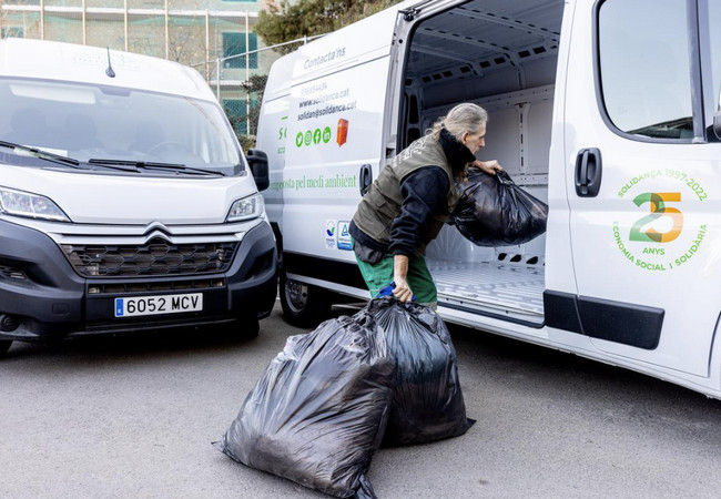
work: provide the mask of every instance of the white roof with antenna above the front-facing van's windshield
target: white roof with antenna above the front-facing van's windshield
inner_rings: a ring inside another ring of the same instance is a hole
[[[215,100],[194,69],[164,59],[110,50],[114,78],[105,74],[108,49],[47,40],[0,40],[0,77],[34,78]]]

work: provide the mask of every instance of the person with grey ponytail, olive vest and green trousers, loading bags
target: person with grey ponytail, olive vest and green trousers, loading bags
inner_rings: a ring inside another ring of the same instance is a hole
[[[478,161],[488,113],[476,104],[451,109],[425,136],[413,142],[380,171],[351,222],[353,249],[370,296],[392,283],[402,302],[436,307],[437,291],[424,258],[456,202],[455,180],[469,165],[489,174],[497,161]]]

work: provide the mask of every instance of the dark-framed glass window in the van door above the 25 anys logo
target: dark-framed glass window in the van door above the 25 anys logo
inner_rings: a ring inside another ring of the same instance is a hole
[[[687,2],[608,0],[599,12],[603,103],[621,131],[692,139]]]

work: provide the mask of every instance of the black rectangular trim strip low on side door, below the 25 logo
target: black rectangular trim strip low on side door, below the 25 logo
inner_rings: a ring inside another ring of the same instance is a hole
[[[546,325],[647,350],[659,345],[666,310],[569,293],[544,292]]]

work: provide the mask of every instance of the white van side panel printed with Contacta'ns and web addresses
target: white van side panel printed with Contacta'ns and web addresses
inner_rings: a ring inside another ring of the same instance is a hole
[[[383,135],[377,132],[385,116],[395,19],[394,12],[384,11],[343,33],[303,45],[274,65],[284,70],[272,72],[268,85],[292,68],[290,96],[276,98],[281,92],[274,90],[263,104],[265,121],[258,128],[272,130],[275,124],[283,136],[273,141],[261,133],[257,146],[271,151],[276,160],[274,164],[268,156],[266,201],[271,217],[281,226],[285,251],[354,261],[347,224],[359,196],[358,170],[369,165],[377,172],[380,164]],[[360,39],[364,43],[354,42]],[[324,78],[318,81],[318,75]],[[278,200],[283,203],[280,211]],[[321,218],[322,226],[308,226],[308,220]]]

